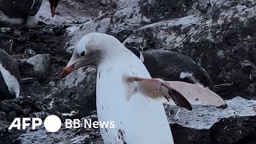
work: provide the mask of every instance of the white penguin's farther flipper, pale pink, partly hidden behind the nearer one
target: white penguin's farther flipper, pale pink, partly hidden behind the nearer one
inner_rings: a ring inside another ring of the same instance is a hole
[[[225,109],[226,102],[213,91],[198,85],[178,81],[166,81],[178,90],[192,105],[216,106]]]

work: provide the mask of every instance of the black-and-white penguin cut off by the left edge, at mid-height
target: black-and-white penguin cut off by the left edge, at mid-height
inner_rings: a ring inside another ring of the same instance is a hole
[[[18,62],[0,49],[0,100],[17,98],[20,94]]]

